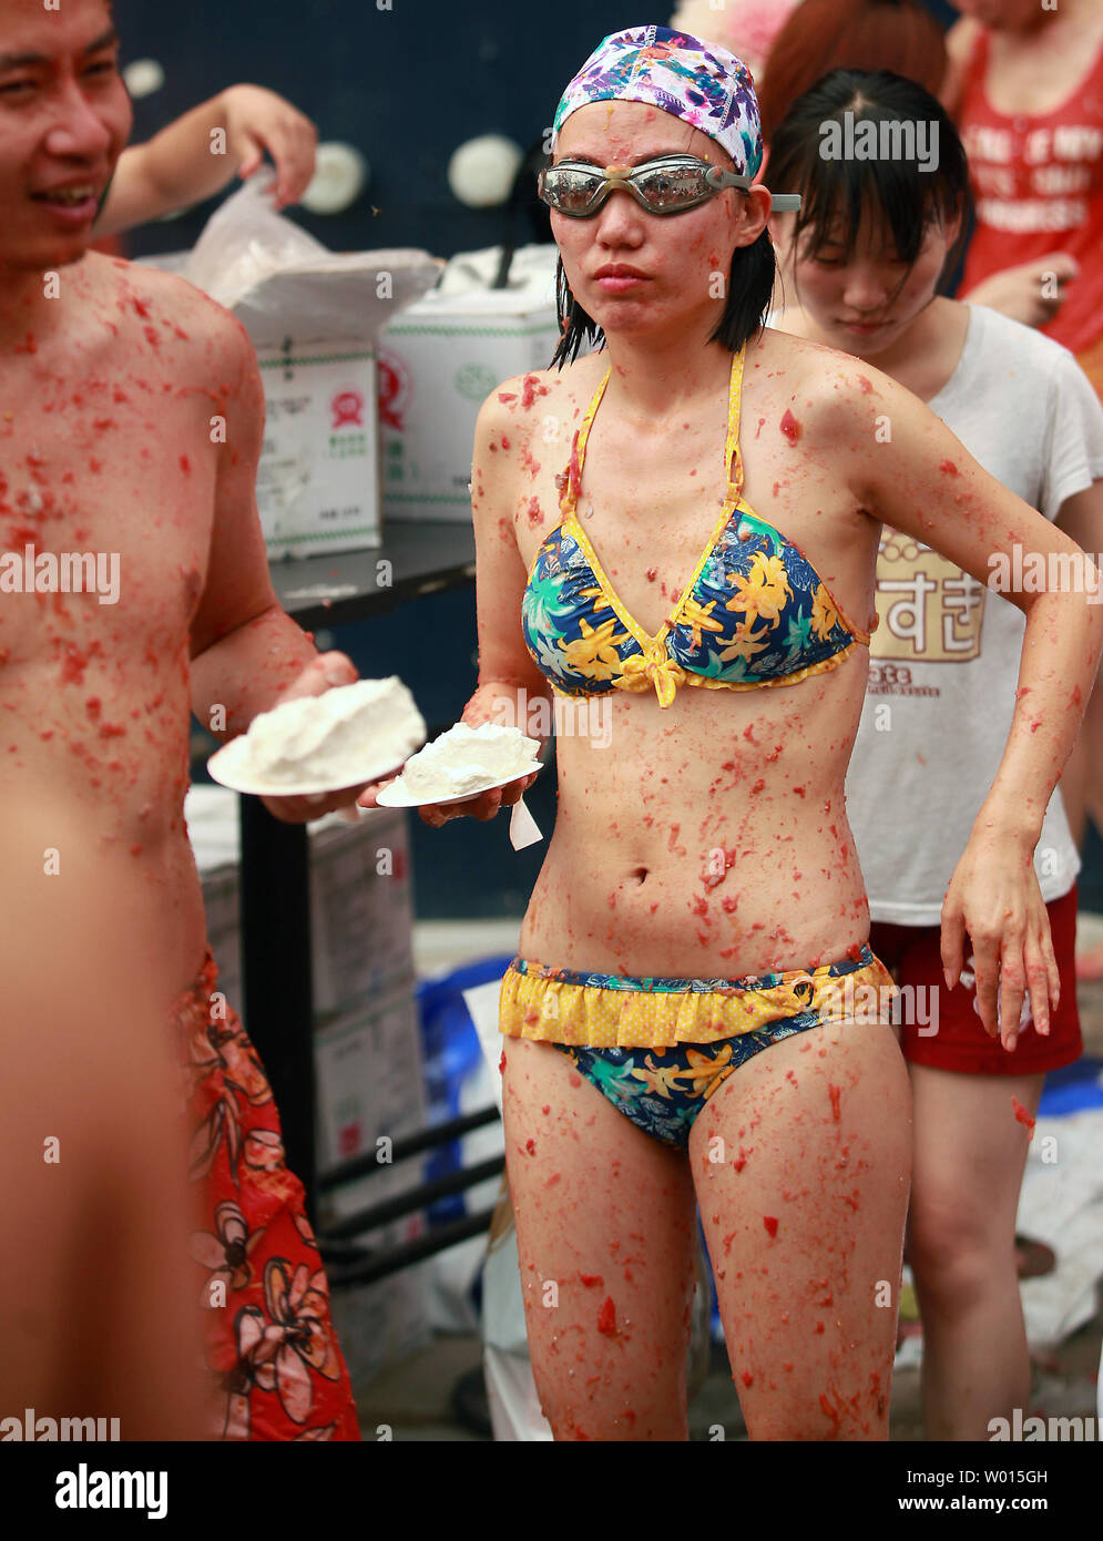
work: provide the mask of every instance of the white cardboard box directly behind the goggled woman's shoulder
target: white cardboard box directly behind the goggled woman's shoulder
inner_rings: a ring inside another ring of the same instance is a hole
[[[555,304],[531,293],[427,294],[379,339],[384,513],[471,518],[479,407],[511,374],[545,370],[559,344]]]

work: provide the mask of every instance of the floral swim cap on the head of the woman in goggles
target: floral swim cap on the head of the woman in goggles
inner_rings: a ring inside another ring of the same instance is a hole
[[[555,133],[590,102],[645,102],[722,145],[735,170],[753,177],[763,133],[750,71],[716,43],[669,26],[633,26],[602,39],[562,94]]]

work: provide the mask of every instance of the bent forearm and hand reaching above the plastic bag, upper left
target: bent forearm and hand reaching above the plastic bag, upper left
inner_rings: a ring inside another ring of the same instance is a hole
[[[122,153],[92,234],[111,236],[200,203],[234,176],[253,176],[265,151],[276,163],[276,206],[296,203],[314,176],[316,145],[314,125],[283,97],[263,86],[230,86]]]

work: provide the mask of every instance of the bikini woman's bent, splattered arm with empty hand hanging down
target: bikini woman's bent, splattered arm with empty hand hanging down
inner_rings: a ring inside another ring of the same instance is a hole
[[[1092,595],[1098,598],[1100,576],[1063,530],[989,476],[923,402],[863,370],[872,393],[861,394],[855,378],[835,408],[850,416],[847,441],[860,425],[858,444],[864,438],[869,445],[850,481],[861,505],[1026,615],[1007,746],[943,905],[947,985],[960,975],[967,932],[981,1020],[992,1036],[1001,1023],[1004,1046],[1014,1048],[1024,989],[1041,1032],[1049,1028],[1048,995],[1058,992],[1032,855],[1095,680],[1103,606]],[[890,441],[880,442],[886,424]]]

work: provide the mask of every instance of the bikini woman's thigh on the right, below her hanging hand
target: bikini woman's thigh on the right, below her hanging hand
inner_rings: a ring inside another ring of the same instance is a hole
[[[692,1171],[752,1439],[884,1439],[907,1211],[907,1069],[829,1023],[730,1076]]]

